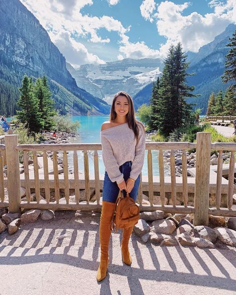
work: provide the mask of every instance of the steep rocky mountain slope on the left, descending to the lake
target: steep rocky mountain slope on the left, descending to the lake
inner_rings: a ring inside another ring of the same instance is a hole
[[[109,114],[110,106],[77,86],[65,57],[19,0],[0,1],[0,114],[15,114],[24,74],[45,74],[55,105],[63,113]]]

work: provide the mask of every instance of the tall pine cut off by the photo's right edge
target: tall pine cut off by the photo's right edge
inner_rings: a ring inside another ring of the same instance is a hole
[[[231,47],[226,55],[225,73],[222,76],[223,82],[233,82],[232,87],[236,90],[236,31],[233,33],[233,37],[230,38],[230,43],[226,46]]]

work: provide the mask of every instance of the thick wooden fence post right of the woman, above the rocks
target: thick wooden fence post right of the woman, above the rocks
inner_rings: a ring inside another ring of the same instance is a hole
[[[194,225],[209,223],[211,133],[197,133]]]

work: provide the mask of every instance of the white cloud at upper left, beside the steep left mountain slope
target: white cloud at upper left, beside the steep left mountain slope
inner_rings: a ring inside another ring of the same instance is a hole
[[[71,56],[75,66],[85,63],[104,63],[98,56],[89,53],[86,47],[77,42],[76,38],[84,37],[93,43],[109,43],[109,38],[102,38],[99,30],[116,31],[118,38],[122,38],[129,28],[124,28],[120,21],[111,16],[82,15],[81,8],[92,5],[93,0],[21,0],[21,2],[36,16],[42,26],[48,31],[51,40],[59,47],[60,51],[69,61]],[[117,0],[110,0],[115,5]],[[65,34],[67,32],[67,34]],[[68,36],[68,48],[62,40],[62,36]],[[57,41],[57,43],[56,43]],[[69,54],[71,50],[71,54]],[[84,58],[79,58],[79,52]],[[77,56],[77,58],[75,58]],[[78,63],[76,63],[78,60]]]

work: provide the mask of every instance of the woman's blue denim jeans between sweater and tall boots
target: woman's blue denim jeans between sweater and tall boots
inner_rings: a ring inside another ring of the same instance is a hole
[[[119,171],[123,173],[124,181],[129,178],[131,171],[132,162],[127,161],[119,166]],[[129,193],[129,196],[136,201],[138,186],[140,182],[140,175],[138,175],[137,179],[134,182],[134,186]],[[123,196],[126,196],[126,191],[122,190]],[[108,172],[105,171],[104,181],[103,181],[103,201],[116,203],[119,194],[119,187],[117,182],[112,182],[112,180],[108,176]]]

